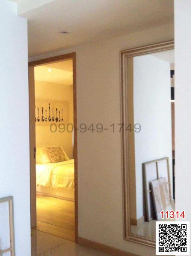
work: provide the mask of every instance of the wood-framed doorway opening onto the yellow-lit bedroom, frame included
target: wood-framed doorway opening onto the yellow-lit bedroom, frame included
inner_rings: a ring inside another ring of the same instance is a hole
[[[29,63],[31,228],[78,237],[76,54]]]

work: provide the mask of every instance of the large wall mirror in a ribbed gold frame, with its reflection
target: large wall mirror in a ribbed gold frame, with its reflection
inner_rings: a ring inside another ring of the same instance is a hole
[[[174,43],[120,54],[124,239],[155,247],[175,207]]]

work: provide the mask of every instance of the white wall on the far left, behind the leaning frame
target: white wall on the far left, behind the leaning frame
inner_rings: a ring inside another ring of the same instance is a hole
[[[30,256],[27,21],[0,0],[0,197],[14,197],[16,255]]]

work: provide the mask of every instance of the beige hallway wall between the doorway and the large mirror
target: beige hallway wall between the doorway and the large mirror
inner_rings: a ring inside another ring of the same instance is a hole
[[[78,125],[120,123],[120,50],[173,40],[173,25],[98,41],[30,60],[76,51]],[[78,132],[79,236],[141,256],[155,249],[123,240],[122,169],[116,132]]]

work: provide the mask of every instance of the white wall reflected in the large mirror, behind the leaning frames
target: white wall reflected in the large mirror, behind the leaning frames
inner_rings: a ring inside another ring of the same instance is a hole
[[[134,124],[137,219],[144,216],[144,162],[169,157],[172,177],[170,63],[151,55],[134,61]],[[171,179],[172,182],[172,179]]]

